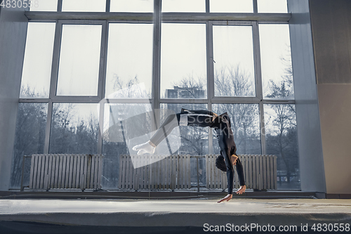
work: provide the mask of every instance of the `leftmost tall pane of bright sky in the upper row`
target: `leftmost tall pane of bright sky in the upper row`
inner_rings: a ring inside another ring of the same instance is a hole
[[[20,98],[48,98],[55,22],[28,22]]]

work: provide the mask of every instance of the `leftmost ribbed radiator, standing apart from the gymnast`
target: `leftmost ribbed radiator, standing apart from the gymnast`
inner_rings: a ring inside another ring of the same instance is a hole
[[[103,155],[32,155],[29,188],[101,188]]]

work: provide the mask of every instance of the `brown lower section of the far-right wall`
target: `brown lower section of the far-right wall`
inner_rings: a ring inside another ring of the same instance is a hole
[[[318,84],[326,193],[351,194],[351,84]]]

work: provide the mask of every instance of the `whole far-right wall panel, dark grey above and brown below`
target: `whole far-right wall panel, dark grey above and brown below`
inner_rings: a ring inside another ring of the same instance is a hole
[[[326,193],[351,194],[351,1],[310,0],[310,13]]]

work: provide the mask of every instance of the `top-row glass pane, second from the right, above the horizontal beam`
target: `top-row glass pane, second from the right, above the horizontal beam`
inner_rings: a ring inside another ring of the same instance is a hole
[[[253,13],[251,0],[210,0],[210,12]]]

